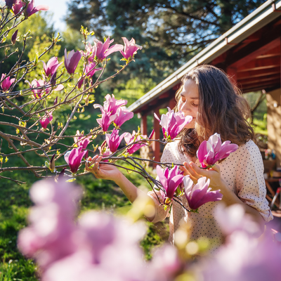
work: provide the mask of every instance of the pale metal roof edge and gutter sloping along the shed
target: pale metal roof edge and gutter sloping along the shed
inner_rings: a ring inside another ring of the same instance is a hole
[[[246,18],[238,22],[237,25],[230,28],[228,32],[221,35],[221,37],[218,37],[218,39],[204,48],[204,50],[195,55],[191,60],[188,61],[188,63],[185,63],[185,65],[164,79],[164,81],[155,86],[155,88],[136,100],[136,102],[130,105],[128,109],[131,111],[138,110],[151,99],[157,98],[162,93],[178,84],[178,81],[181,79],[181,77],[192,70],[192,68],[203,63],[209,63],[217,58],[218,55],[221,55],[230,48],[233,48],[233,45],[230,45],[230,43],[240,43],[251,34],[267,25],[269,22],[275,20],[275,18],[280,16],[280,14],[273,11],[272,5],[274,3],[276,9],[281,8],[281,0],[266,1],[266,3],[257,8],[253,13],[249,14]],[[226,38],[228,42],[226,41]]]

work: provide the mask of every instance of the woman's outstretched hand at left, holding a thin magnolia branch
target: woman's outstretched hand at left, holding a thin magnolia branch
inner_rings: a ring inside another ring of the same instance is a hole
[[[116,166],[110,164],[100,164],[102,156],[96,155],[95,157],[89,157],[86,162],[86,171],[90,171],[96,176],[96,178],[103,178],[104,180],[117,181],[122,175],[121,171]]]

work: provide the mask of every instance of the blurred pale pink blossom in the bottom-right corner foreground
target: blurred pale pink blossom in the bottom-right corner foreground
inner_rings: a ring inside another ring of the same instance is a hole
[[[257,239],[237,231],[212,259],[198,265],[198,272],[204,281],[277,281],[280,261],[280,244],[269,233]]]

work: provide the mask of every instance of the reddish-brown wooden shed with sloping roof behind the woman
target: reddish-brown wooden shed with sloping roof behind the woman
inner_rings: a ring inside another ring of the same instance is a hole
[[[193,67],[215,65],[232,77],[242,93],[264,90],[268,105],[268,148],[274,149],[281,166],[281,0],[266,1],[228,32],[204,48],[194,58],[133,103],[129,110],[141,117],[142,133],[147,134],[147,117],[159,109],[174,107],[181,78]],[[154,122],[155,138],[160,136]],[[153,143],[155,160],[160,159],[159,143]]]

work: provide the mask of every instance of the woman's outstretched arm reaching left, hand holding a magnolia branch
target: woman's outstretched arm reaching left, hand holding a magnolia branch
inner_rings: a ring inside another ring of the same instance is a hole
[[[86,171],[90,171],[96,178],[102,178],[104,180],[110,180],[114,181],[117,185],[119,185],[119,188],[122,189],[124,192],[124,195],[131,201],[135,201],[136,197],[138,197],[138,192],[142,192],[139,190],[131,181],[124,176],[119,169],[117,169],[116,166],[113,165],[107,165],[107,164],[100,164],[100,160],[103,159],[103,157],[96,155],[93,157],[88,158],[88,161],[91,162],[86,163]],[[93,166],[92,166],[93,165]],[[92,166],[92,167],[91,167]],[[153,205],[155,205],[154,201],[151,199],[150,196],[148,196],[145,192],[143,192],[143,196],[147,196],[149,202]],[[150,221],[153,221],[153,217],[148,217]]]

